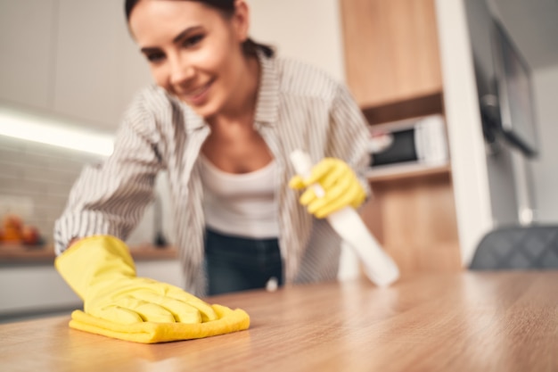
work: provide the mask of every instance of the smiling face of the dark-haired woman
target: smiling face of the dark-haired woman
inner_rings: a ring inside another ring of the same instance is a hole
[[[194,1],[142,0],[129,27],[160,87],[203,118],[232,110],[242,92],[248,10],[242,1],[226,16]]]

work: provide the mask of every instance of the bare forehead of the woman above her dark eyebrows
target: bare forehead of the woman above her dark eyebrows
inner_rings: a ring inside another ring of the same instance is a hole
[[[223,23],[221,13],[196,1],[141,0],[130,14],[129,27],[140,45],[158,44],[193,27]]]

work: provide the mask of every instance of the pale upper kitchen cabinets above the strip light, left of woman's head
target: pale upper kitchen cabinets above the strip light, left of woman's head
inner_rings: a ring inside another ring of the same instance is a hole
[[[121,0],[0,0],[0,104],[110,133],[152,81]]]

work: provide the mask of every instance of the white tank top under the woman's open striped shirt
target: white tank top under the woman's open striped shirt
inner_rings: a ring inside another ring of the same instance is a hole
[[[207,227],[235,236],[279,236],[275,161],[250,173],[233,174],[218,169],[202,154],[200,159]]]

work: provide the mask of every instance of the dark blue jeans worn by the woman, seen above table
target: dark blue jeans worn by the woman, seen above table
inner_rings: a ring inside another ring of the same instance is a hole
[[[275,277],[283,285],[283,260],[276,238],[226,236],[206,229],[208,294],[265,288]]]

